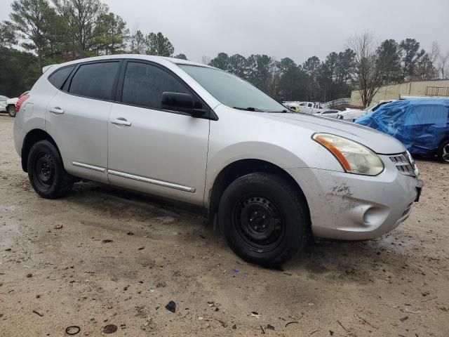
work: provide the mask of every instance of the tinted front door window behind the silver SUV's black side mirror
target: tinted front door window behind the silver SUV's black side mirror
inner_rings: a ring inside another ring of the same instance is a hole
[[[154,65],[128,62],[121,101],[130,105],[161,109],[162,93],[189,93],[182,82]]]

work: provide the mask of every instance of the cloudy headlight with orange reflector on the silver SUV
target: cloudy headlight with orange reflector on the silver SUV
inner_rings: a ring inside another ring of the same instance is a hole
[[[384,171],[382,160],[368,147],[330,133],[315,133],[312,138],[340,161],[347,173],[377,176]]]

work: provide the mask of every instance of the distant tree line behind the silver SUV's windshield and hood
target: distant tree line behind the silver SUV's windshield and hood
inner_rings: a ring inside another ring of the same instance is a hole
[[[436,42],[431,51],[424,51],[415,39],[386,39],[377,45],[373,34],[362,33],[349,37],[343,51],[333,51],[324,60],[312,56],[297,64],[291,58],[219,53],[208,64],[250,81],[279,100],[327,102],[349,97],[358,88],[363,105],[369,105],[384,84],[447,78],[449,53],[443,55]]]

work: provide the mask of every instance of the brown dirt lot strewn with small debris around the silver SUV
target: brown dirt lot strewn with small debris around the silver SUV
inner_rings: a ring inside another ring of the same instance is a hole
[[[267,270],[140,194],[81,183],[39,198],[0,114],[0,336],[449,336],[449,166],[418,164],[422,199],[394,232]]]

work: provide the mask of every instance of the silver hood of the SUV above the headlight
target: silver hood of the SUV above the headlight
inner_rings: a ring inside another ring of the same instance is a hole
[[[260,114],[260,113],[258,113]],[[289,113],[267,113],[264,117],[296,124],[302,128],[307,128],[311,134],[316,132],[327,132],[337,136],[349,138],[361,143],[377,154],[397,154],[406,152],[406,148],[401,142],[386,133],[367,128],[358,124],[339,121],[310,114],[289,114]]]

